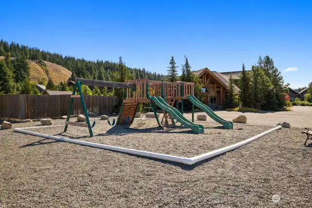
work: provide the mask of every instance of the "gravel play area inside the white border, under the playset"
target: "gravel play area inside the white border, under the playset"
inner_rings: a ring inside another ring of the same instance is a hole
[[[75,118],[71,119],[75,121]],[[64,121],[56,121],[64,124]],[[170,130],[157,129],[155,119],[135,120],[131,129],[124,125],[114,127],[104,121],[98,121],[93,128],[94,137],[87,137],[87,128],[69,126],[67,132],[62,133],[64,127],[35,128],[31,131],[43,134],[57,135],[70,139],[79,139],[110,146],[119,146],[138,150],[151,151],[181,157],[194,157],[225,146],[246,140],[273,126],[262,125],[234,125],[233,130],[227,130],[217,123],[196,122],[205,126],[204,134],[194,134],[190,128],[177,124]],[[124,128],[126,127],[126,128]]]

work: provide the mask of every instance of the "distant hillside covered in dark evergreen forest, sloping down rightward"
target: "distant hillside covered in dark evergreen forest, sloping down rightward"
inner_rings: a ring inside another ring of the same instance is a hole
[[[36,47],[29,47],[19,43],[8,43],[1,39],[0,41],[0,56],[5,56],[10,53],[11,57],[25,60],[41,60],[59,64],[66,69],[74,72],[79,78],[96,79],[112,81],[113,74],[118,70],[118,63],[110,61],[87,61],[84,59],[76,59],[72,56],[64,56],[58,53],[50,53],[40,50]],[[165,78],[164,75],[149,72],[145,68],[127,67],[130,72],[130,77],[133,79],[148,78],[149,80],[160,81]]]

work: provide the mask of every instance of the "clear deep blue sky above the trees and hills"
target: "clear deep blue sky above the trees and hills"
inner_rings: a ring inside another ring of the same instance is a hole
[[[312,2],[303,0],[1,2],[0,39],[166,73],[241,70],[269,55],[291,87],[312,82]],[[287,71],[285,71],[287,68]]]

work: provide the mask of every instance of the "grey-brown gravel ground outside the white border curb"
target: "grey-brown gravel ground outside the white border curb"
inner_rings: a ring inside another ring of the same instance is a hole
[[[0,130],[0,207],[311,207],[312,145],[302,130],[194,166]]]

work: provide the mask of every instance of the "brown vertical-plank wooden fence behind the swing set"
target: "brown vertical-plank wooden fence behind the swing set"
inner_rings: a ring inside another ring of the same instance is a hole
[[[88,112],[108,114],[114,111],[116,96],[84,95]],[[0,95],[0,118],[40,119],[67,115],[70,95]],[[75,98],[71,115],[83,114]]]

